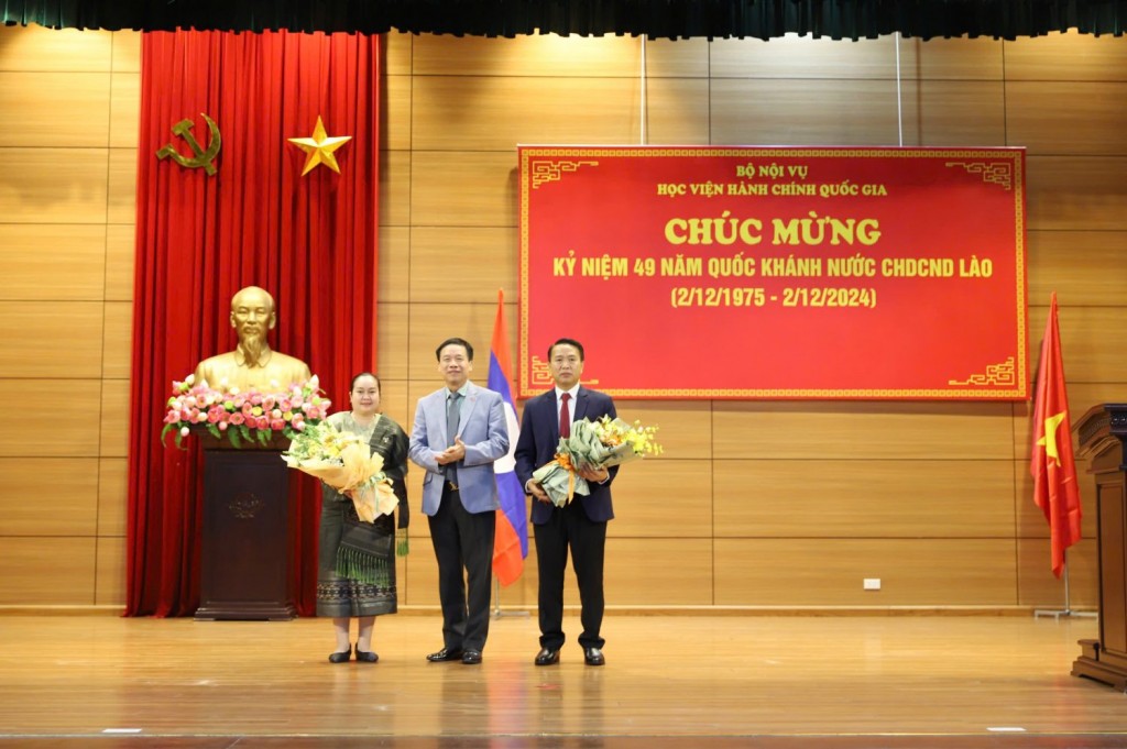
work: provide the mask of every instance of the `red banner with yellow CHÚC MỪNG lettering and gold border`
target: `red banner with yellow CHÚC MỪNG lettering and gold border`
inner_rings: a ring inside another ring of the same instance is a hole
[[[522,146],[520,394],[1028,396],[1024,150]]]

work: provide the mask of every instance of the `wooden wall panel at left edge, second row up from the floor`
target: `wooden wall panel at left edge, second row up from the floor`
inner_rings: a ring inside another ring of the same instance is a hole
[[[0,537],[92,536],[97,510],[97,458],[0,458]]]

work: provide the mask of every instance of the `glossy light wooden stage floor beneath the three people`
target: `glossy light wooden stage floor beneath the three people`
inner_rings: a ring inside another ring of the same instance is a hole
[[[534,615],[428,663],[440,627],[382,617],[379,663],[332,665],[322,619],[0,616],[0,746],[1127,747],[1127,695],[1068,674],[1091,618],[619,614],[603,668],[533,666]]]

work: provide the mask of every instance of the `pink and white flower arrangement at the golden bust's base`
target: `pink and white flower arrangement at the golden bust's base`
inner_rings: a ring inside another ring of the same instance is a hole
[[[275,433],[293,439],[308,425],[314,425],[329,413],[331,403],[323,396],[317,375],[302,384],[277,393],[238,389],[212,390],[206,382],[194,384],[194,376],[172,382],[172,395],[165,413],[165,436],[176,433],[176,446],[199,425],[216,439],[225,435],[233,447],[257,439],[268,445]]]

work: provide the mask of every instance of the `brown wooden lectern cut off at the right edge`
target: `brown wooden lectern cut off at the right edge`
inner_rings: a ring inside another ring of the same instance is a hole
[[[1104,403],[1076,423],[1077,455],[1095,476],[1099,640],[1081,640],[1073,676],[1127,690],[1127,403]]]

